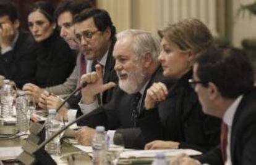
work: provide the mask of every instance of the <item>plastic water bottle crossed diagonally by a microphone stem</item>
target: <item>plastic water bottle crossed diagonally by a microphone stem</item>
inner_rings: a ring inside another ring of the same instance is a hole
[[[60,129],[60,122],[56,119],[56,110],[49,109],[49,115],[46,120],[45,133],[46,139],[54,135]],[[51,155],[61,155],[61,135],[55,137],[51,142],[49,142],[46,147],[46,151],[48,151]]]

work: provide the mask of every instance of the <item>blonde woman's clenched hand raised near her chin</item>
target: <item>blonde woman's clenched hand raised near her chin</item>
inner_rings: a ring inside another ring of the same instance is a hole
[[[145,97],[145,108],[154,108],[156,102],[162,102],[168,95],[168,89],[162,82],[155,82],[148,90]]]

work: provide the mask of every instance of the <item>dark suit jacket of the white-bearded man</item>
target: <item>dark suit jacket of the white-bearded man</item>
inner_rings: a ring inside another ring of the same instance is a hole
[[[147,84],[145,92],[153,82],[173,82],[173,80],[164,78],[163,70],[159,67],[156,72],[151,76]],[[169,84],[169,83],[167,83]],[[140,129],[134,127],[132,120],[132,102],[134,101],[135,94],[127,94],[119,87],[116,87],[113,92],[111,101],[101,108],[101,112],[85,118],[82,122],[83,125],[90,127],[105,126],[106,129],[115,130],[122,134],[124,143],[129,148],[143,148],[145,141],[140,132]],[[140,111],[143,110],[145,94],[143,94],[142,103],[140,104]]]

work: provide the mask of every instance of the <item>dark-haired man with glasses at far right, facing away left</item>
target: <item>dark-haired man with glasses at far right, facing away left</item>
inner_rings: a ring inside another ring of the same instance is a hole
[[[222,119],[221,145],[199,156],[201,163],[256,164],[256,91],[254,71],[239,49],[210,47],[198,55],[190,79],[204,113]],[[173,164],[200,164],[179,156]]]

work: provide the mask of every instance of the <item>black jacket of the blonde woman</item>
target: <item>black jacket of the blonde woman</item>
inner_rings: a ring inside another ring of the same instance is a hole
[[[220,143],[220,119],[203,114],[197,94],[189,85],[192,71],[169,89],[156,108],[144,111],[138,121],[147,142],[172,140],[179,148],[208,151]]]

